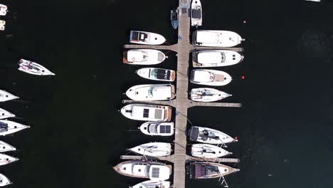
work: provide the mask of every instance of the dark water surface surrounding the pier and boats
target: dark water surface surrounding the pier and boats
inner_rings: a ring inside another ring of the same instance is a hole
[[[241,171],[231,187],[332,187],[333,2],[202,0],[203,29],[232,30],[246,38],[245,61],[218,68],[233,82],[219,89],[243,108],[193,108],[194,125],[238,136],[229,145]],[[11,187],[128,187],[143,179],[112,170],[126,149],[171,142],[136,130],[122,117],[122,95],[154,83],[123,65],[130,29],[160,33],[176,42],[169,11],[177,1],[4,1],[10,12],[0,33],[0,88],[23,102],[1,103],[30,130],[1,140],[21,160],[0,167]],[[242,23],[246,19],[247,23]],[[159,65],[176,68],[174,53]],[[16,70],[19,58],[56,73],[38,77]],[[240,76],[245,75],[245,80]],[[194,85],[191,85],[193,87]],[[186,187],[219,187],[216,179]]]

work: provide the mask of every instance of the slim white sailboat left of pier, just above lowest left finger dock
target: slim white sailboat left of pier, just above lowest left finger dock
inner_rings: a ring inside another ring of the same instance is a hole
[[[140,155],[147,155],[152,157],[168,156],[171,154],[171,144],[165,142],[150,142],[137,147],[128,149],[129,151],[136,152]]]

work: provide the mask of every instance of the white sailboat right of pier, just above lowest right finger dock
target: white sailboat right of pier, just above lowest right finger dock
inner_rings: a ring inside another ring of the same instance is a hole
[[[202,158],[218,158],[226,155],[231,155],[232,152],[228,152],[221,147],[216,145],[208,145],[208,144],[195,144],[191,147],[191,155],[194,157],[202,157]]]

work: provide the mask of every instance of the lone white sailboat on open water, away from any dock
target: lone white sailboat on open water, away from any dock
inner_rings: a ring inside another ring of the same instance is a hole
[[[27,61],[21,59],[18,61],[18,70],[23,71],[25,73],[33,74],[33,75],[56,75],[51,71],[48,71],[47,68],[39,65],[38,63]]]

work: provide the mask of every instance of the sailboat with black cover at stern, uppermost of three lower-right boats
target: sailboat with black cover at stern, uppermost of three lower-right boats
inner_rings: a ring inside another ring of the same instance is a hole
[[[238,140],[219,130],[213,130],[208,127],[193,126],[187,132],[191,141],[202,142],[211,145],[225,145]]]

